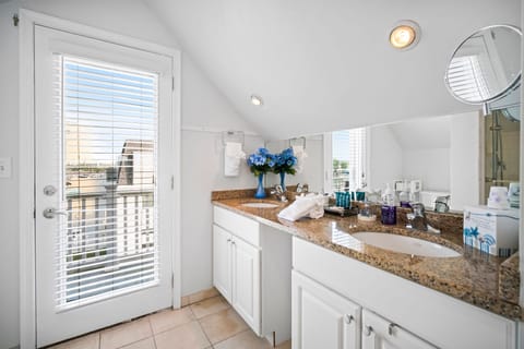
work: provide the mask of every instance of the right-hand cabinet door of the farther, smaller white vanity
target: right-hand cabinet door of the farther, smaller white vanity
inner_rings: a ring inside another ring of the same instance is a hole
[[[233,240],[233,306],[260,335],[260,251]]]

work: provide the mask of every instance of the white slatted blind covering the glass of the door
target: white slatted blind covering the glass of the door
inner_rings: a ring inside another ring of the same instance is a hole
[[[55,68],[63,308],[158,282],[158,76],[61,55]]]

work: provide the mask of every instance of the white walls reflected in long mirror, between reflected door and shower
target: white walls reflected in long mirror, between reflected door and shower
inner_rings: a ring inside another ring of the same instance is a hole
[[[419,197],[427,206],[446,195],[451,209],[478,204],[480,120],[468,112],[371,127],[370,188],[420,180]]]

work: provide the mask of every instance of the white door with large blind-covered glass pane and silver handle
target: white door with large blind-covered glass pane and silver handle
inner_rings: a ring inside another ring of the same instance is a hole
[[[172,304],[172,63],[35,27],[38,347]]]

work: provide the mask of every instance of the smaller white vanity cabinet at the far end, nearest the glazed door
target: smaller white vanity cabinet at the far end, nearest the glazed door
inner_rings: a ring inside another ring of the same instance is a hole
[[[291,237],[213,207],[213,285],[253,332],[279,344],[291,333]]]

